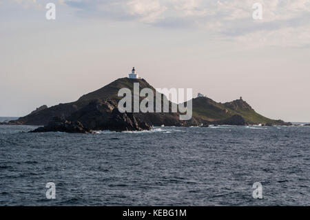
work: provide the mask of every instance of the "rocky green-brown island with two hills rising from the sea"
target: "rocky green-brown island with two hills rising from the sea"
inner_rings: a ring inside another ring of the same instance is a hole
[[[118,101],[122,99],[118,97],[118,91],[121,88],[129,88],[133,92],[134,83],[139,83],[140,90],[150,88],[154,95],[156,94],[156,90],[144,79],[121,78],[99,90],[83,95],[77,101],[50,108],[43,106],[25,117],[10,121],[10,124],[46,126],[54,117],[61,117],[68,121],[79,121],[90,130],[141,130],[162,124],[165,126],[200,126],[201,123],[222,124],[225,121],[231,124],[236,121],[236,124],[245,122],[247,124],[285,125],[284,121],[268,119],[258,114],[242,99],[228,103],[217,103],[207,97],[193,99],[193,117],[189,121],[180,121],[178,113],[116,114]],[[162,96],[163,99],[167,99],[164,95]],[[171,112],[171,102],[169,102],[169,108]],[[234,117],[235,115],[238,117]]]

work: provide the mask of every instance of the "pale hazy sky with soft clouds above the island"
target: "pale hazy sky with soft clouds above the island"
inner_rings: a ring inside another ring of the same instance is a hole
[[[309,122],[310,0],[0,0],[0,116],[76,101],[133,66],[154,88]]]

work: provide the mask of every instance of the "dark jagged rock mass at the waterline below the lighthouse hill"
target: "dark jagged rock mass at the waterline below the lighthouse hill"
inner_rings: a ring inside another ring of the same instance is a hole
[[[92,130],[150,130],[151,126],[134,117],[132,113],[121,113],[115,108],[112,100],[91,101],[68,117],[54,117],[47,126],[37,128],[33,132],[68,132],[90,133]]]

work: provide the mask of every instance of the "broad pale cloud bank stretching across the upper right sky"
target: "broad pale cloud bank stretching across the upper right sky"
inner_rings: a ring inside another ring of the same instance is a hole
[[[25,6],[35,0],[12,0]],[[79,17],[136,21],[161,28],[198,28],[218,39],[276,46],[310,44],[310,0],[59,0]],[[254,3],[263,19],[254,21]],[[287,40],[283,40],[283,36]],[[270,38],[270,41],[269,41]],[[277,43],[276,39],[281,39]],[[287,43],[286,43],[287,42]],[[294,43],[292,43],[294,42]]]

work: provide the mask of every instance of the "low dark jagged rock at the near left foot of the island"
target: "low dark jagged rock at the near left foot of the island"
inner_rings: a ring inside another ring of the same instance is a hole
[[[47,126],[37,128],[30,132],[67,132],[67,133],[92,133],[92,130],[84,128],[79,121],[67,121],[62,117],[54,117]]]

